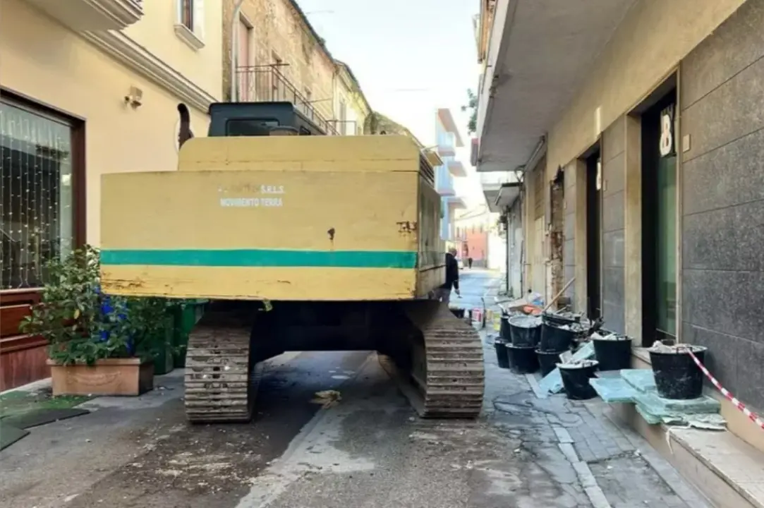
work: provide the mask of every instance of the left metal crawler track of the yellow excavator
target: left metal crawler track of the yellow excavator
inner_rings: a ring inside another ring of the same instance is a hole
[[[263,363],[251,348],[254,313],[205,312],[186,350],[186,418],[192,423],[248,422]]]

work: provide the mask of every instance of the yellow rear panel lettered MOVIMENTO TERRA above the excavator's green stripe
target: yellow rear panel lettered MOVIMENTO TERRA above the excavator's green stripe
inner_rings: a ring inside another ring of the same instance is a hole
[[[417,222],[417,180],[413,171],[277,167],[104,175],[102,248],[416,251],[416,234],[400,233],[397,223]],[[261,186],[284,193],[263,194]],[[221,205],[231,198],[283,205]]]

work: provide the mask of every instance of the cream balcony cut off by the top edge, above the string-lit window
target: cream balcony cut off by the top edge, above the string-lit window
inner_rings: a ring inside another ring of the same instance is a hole
[[[128,28],[144,15],[143,0],[27,0],[73,31]]]

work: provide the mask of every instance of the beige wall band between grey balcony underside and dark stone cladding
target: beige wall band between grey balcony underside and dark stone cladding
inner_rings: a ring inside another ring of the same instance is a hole
[[[586,83],[549,131],[547,174],[579,157],[601,129],[629,112],[744,0],[638,0]]]

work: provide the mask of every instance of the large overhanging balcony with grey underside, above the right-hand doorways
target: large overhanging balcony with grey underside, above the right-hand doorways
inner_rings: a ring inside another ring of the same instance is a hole
[[[636,0],[496,0],[484,26],[477,169],[526,166]],[[644,3],[644,2],[643,2]],[[660,3],[660,2],[658,2]],[[656,4],[657,5],[657,4]],[[594,118],[595,112],[591,112]],[[528,168],[530,169],[530,168]]]

